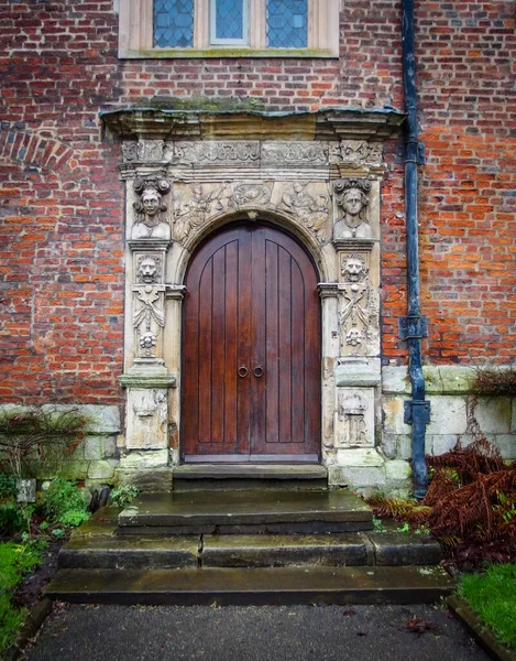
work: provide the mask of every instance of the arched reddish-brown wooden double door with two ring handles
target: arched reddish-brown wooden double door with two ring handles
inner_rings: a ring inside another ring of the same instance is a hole
[[[257,223],[213,235],[186,277],[186,462],[317,462],[317,273],[299,243]]]

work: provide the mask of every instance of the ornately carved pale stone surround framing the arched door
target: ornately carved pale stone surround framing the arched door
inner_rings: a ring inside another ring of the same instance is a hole
[[[169,448],[168,460],[179,463],[184,275],[199,241],[238,218],[268,219],[294,232],[319,270],[321,457],[330,481],[341,484],[341,457],[353,448],[375,452],[382,140],[397,130],[403,117],[397,123],[391,118],[391,133],[385,113],[376,132],[371,122],[363,122],[361,130],[353,117],[350,129],[345,112],[333,122],[329,112],[323,130],[317,130],[322,126],[318,117],[312,134],[306,118],[303,130],[296,117],[289,128],[282,118],[281,127],[270,124],[276,128],[262,139],[255,134],[255,118],[235,119],[228,129],[221,116],[227,128],[210,131],[216,140],[205,139],[201,130],[185,139],[187,128],[195,133],[191,118],[171,137],[169,127],[167,132],[162,126],[160,132],[155,117],[135,116],[132,124],[120,115],[105,117],[122,138],[120,172],[127,195],[121,383],[127,388],[128,456],[153,449],[163,459]],[[218,126],[213,118],[211,122]]]

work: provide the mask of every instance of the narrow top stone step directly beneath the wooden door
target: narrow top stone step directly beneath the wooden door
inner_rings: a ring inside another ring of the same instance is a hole
[[[326,489],[328,470],[314,464],[185,464],[175,466],[174,491]]]

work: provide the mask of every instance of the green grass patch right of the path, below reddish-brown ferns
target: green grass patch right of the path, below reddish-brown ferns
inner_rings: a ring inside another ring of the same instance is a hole
[[[482,574],[463,574],[459,594],[501,642],[516,650],[516,564],[491,565]]]

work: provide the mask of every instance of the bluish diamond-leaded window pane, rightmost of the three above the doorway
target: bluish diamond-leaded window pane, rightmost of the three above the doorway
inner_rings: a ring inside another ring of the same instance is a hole
[[[267,46],[308,46],[308,0],[267,0]]]

